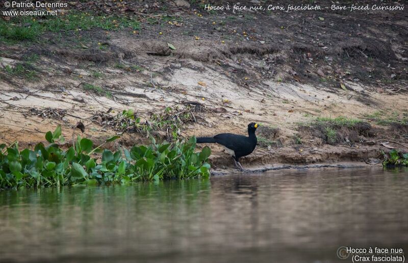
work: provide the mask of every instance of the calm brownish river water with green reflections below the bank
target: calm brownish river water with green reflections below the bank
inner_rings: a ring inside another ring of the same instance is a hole
[[[337,262],[339,246],[406,250],[407,189],[406,171],[376,168],[3,191],[0,262]]]

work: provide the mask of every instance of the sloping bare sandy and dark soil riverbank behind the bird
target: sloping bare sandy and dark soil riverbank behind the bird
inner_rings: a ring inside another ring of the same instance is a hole
[[[383,151],[408,151],[406,12],[222,13],[186,3],[93,10],[130,16],[137,30],[2,38],[0,143],[28,147],[61,124],[69,145],[79,121],[95,141],[121,134],[125,147],[147,143],[145,130],[115,118],[133,110],[145,126],[177,123],[149,130],[162,140],[245,134],[247,123],[260,122],[245,167],[376,164]],[[69,12],[80,19],[89,8],[78,2]],[[212,148],[216,169],[233,166]]]

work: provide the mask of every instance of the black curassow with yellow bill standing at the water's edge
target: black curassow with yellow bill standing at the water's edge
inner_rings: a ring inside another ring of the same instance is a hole
[[[233,156],[234,164],[239,170],[243,170],[239,159],[250,154],[257,146],[257,136],[255,131],[258,123],[248,124],[248,137],[238,134],[217,134],[214,137],[198,137],[197,143],[218,143],[224,146],[225,150]]]

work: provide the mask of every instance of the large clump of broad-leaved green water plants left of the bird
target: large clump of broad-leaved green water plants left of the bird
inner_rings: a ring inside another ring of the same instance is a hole
[[[74,185],[110,185],[138,180],[161,180],[210,176],[209,147],[195,152],[195,137],[189,141],[156,143],[148,146],[101,151],[101,146],[119,138],[108,138],[94,147],[91,140],[78,136],[73,146],[62,149],[61,127],[45,135],[48,145],[19,151],[18,142],[0,145],[0,189]],[[97,153],[101,153],[101,156]]]

